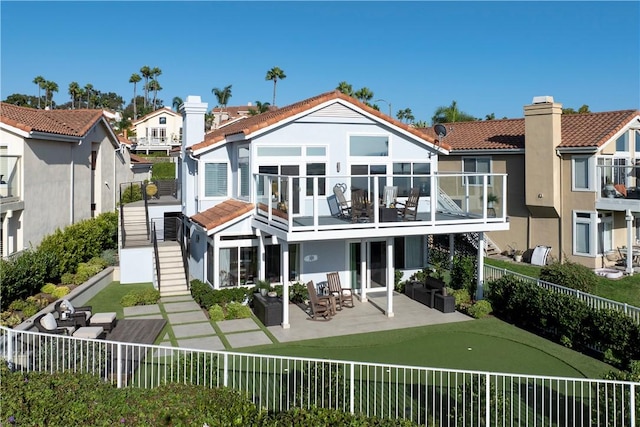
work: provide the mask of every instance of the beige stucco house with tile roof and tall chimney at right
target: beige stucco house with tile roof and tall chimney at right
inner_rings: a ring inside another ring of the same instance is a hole
[[[488,234],[500,250],[550,246],[554,259],[600,268],[640,239],[640,111],[563,115],[545,96],[524,119],[446,128],[440,171],[509,175],[506,189],[488,183],[509,217],[508,231]]]

